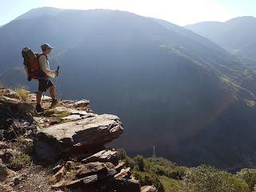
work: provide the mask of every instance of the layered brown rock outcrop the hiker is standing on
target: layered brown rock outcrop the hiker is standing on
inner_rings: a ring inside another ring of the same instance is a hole
[[[47,97],[43,98],[42,106],[49,109],[37,114],[35,94],[28,92],[26,97],[24,102],[14,91],[1,89],[0,189],[14,191],[19,183],[15,172],[8,167],[11,167],[10,161],[23,152],[6,143],[22,140],[26,145],[33,143],[31,155],[35,161],[52,167],[49,182],[52,190],[49,191],[66,188],[94,192],[141,191],[140,182],[133,178],[130,167],[120,161],[118,151],[105,147],[124,131],[117,116],[95,114],[90,109],[90,101],[85,99],[62,100],[50,109]]]

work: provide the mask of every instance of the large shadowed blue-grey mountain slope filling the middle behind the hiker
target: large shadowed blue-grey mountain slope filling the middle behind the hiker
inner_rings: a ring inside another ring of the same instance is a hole
[[[130,154],[150,155],[154,145],[186,165],[250,165],[256,99],[241,86],[246,65],[190,30],[122,11],[63,10],[14,20],[0,41],[1,70],[22,65],[23,46],[53,45],[58,96],[90,98],[98,113],[121,117],[126,132],[112,145]]]

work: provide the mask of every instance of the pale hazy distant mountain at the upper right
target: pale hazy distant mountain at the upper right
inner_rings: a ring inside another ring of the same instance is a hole
[[[255,59],[256,18],[246,16],[226,22],[199,22],[185,26],[195,33],[209,38],[226,50]]]

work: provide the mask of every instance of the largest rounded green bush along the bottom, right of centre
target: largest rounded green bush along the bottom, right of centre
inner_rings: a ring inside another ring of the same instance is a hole
[[[210,166],[198,166],[186,171],[182,181],[186,192],[249,192],[249,186],[241,179]]]

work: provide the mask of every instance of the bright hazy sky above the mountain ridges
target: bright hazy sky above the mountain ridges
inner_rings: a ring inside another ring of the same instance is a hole
[[[0,26],[42,6],[127,10],[179,26],[203,21],[225,22],[238,16],[256,17],[256,0],[1,0]]]

